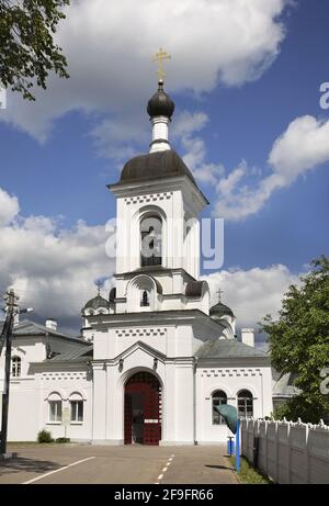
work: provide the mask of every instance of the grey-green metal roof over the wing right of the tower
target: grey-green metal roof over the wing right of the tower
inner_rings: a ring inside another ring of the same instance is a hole
[[[236,339],[208,339],[196,351],[198,358],[262,357],[268,355]]]

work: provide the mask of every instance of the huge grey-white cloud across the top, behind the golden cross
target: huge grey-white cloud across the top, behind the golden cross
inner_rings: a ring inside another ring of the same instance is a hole
[[[140,126],[140,103],[154,92],[151,54],[172,54],[168,89],[208,92],[218,82],[240,86],[259,78],[280,52],[280,21],[287,0],[73,0],[56,35],[70,79],[50,77],[36,102],[10,94],[1,119],[45,142],[54,120],[72,110],[104,114],[102,138],[129,139]],[[145,113],[146,115],[146,113]],[[124,120],[126,119],[126,120]],[[109,123],[109,121],[111,123]],[[121,132],[114,132],[113,124]]]

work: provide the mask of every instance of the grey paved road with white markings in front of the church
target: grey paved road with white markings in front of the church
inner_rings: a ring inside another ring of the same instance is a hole
[[[18,459],[0,462],[0,484],[237,483],[223,447],[11,446]]]

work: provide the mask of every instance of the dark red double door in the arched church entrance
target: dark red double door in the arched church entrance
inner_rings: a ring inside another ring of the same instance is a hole
[[[134,405],[138,398],[138,415]],[[125,445],[159,445],[161,439],[161,387],[149,372],[134,374],[125,385]]]

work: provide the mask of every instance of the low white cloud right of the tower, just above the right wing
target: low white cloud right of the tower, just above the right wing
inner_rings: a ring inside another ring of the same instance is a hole
[[[298,277],[283,265],[223,270],[203,279],[209,284],[213,304],[217,302],[216,292],[220,288],[224,291],[222,301],[235,313],[237,326],[256,329],[266,314],[277,316],[284,293],[291,284],[298,283]]]

